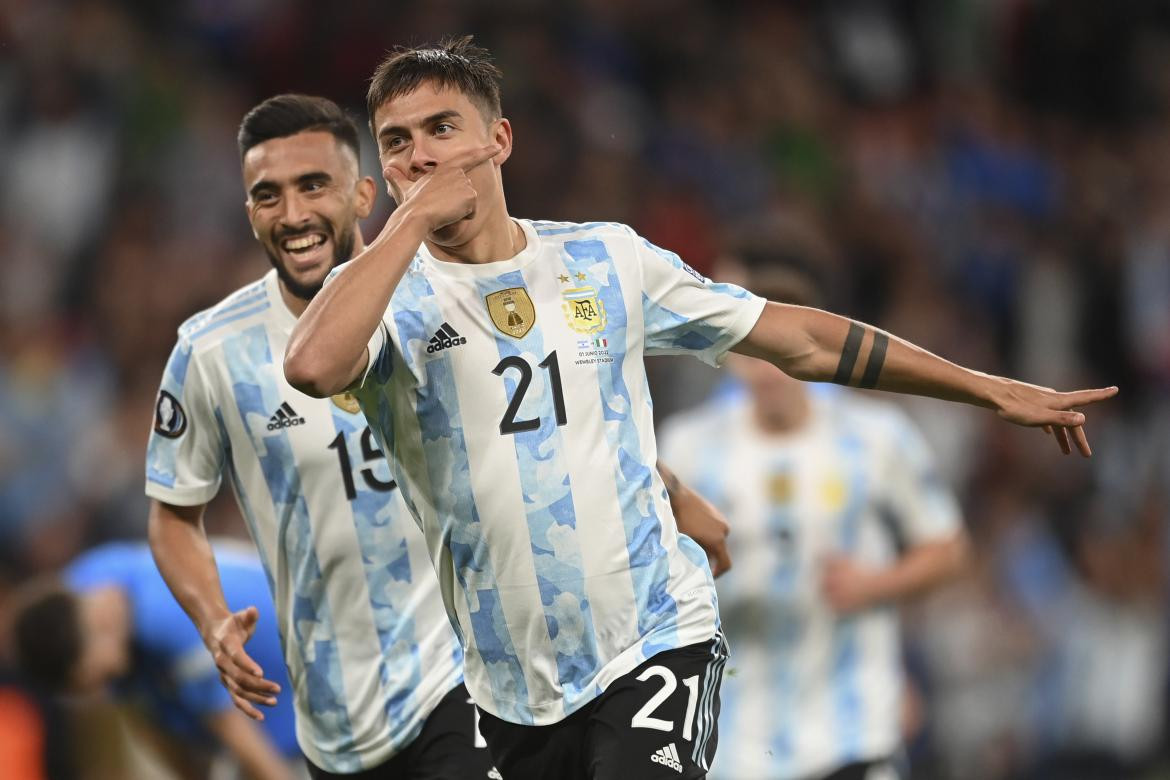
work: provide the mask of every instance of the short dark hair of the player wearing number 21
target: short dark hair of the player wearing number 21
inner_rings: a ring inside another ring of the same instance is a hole
[[[383,60],[370,78],[366,109],[370,130],[373,115],[386,101],[418,89],[424,82],[452,87],[467,95],[487,119],[497,119],[500,80],[503,74],[491,62],[491,53],[475,46],[470,35],[443,39],[439,43],[413,48],[398,47]]]

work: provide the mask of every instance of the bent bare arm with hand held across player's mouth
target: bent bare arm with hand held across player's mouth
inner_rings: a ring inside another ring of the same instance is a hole
[[[422,240],[475,210],[476,193],[467,172],[500,152],[493,144],[441,163],[411,182],[387,167],[399,207],[386,227],[344,274],[318,292],[292,329],[284,354],[284,378],[292,387],[325,398],[351,387],[371,360],[366,345],[390,305]]]

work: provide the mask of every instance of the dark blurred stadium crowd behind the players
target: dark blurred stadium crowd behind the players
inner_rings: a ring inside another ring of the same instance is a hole
[[[1088,754],[1144,767],[1102,778],[1163,776],[1166,4],[4,0],[0,609],[144,534],[174,329],[268,268],[243,112],[295,90],[364,122],[388,47],[468,32],[505,74],[514,214],[628,222],[704,271],[768,230],[823,269],[835,311],[980,370],[1121,386],[1090,417],[1092,462],[909,402],[976,550],[908,612],[911,755],[927,780],[1072,778],[1053,761]],[[652,364],[660,414],[710,382]],[[211,522],[240,533],[229,501]],[[60,776],[87,776],[68,712],[4,679],[0,764],[49,746]]]

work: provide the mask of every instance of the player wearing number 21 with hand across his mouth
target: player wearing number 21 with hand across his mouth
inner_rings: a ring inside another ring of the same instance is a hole
[[[734,347],[800,379],[982,403],[1086,454],[1069,409],[1115,391],[966,371],[713,284],[621,225],[512,219],[498,77],[469,39],[379,65],[370,117],[399,208],[302,315],[285,377],[353,388],[388,448],[505,778],[703,776],[727,646],[654,468],[644,356]]]

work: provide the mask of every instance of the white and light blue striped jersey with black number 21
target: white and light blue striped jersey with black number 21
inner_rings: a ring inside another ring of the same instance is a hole
[[[642,357],[716,364],[764,301],[613,223],[517,220],[526,247],[421,247],[356,395],[422,526],[476,703],[556,723],[717,629],[707,558],[655,468]]]

